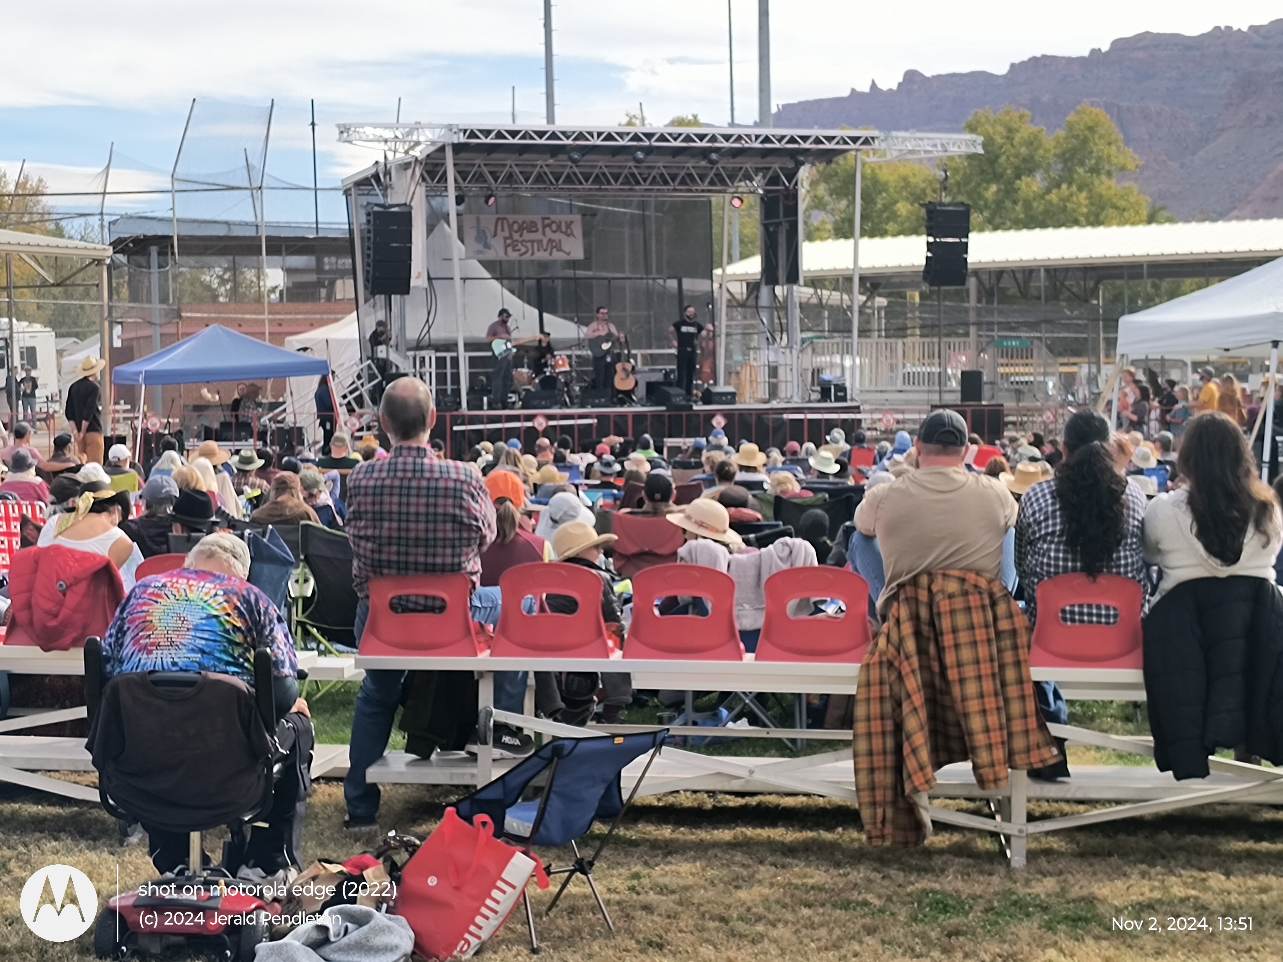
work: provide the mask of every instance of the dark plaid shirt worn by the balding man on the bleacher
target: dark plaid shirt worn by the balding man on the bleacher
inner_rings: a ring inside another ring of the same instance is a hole
[[[408,445],[353,468],[346,527],[353,587],[362,600],[370,599],[370,578],[382,575],[463,572],[475,587],[481,553],[495,537],[494,505],[481,477],[461,462]],[[407,599],[404,609],[431,611],[431,604]]]

